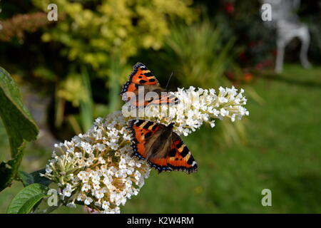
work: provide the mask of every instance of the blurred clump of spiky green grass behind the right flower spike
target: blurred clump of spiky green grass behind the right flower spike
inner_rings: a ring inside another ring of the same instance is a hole
[[[232,36],[224,43],[221,30],[209,19],[192,26],[176,24],[172,27],[166,40],[168,56],[176,63],[182,86],[218,88],[230,85],[223,75],[233,64],[235,38]]]

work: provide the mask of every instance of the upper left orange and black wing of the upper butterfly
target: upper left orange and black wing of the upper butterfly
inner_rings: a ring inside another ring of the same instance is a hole
[[[136,63],[133,66],[133,71],[129,76],[128,82],[123,85],[121,95],[124,101],[131,100],[132,93],[138,91],[138,86],[160,86],[156,77],[148,70],[143,63]]]

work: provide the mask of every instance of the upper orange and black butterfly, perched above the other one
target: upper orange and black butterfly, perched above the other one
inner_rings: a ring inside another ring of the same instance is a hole
[[[133,95],[138,98],[138,87],[143,86],[144,94],[148,92],[156,93],[156,98],[150,98],[148,100],[133,99]],[[130,102],[133,107],[143,108],[149,104],[162,105],[162,104],[178,104],[179,100],[175,95],[167,93],[164,88],[161,88],[156,77],[148,70],[143,63],[136,63],[133,66],[133,71],[129,76],[128,82],[123,85],[121,90],[123,100]]]

